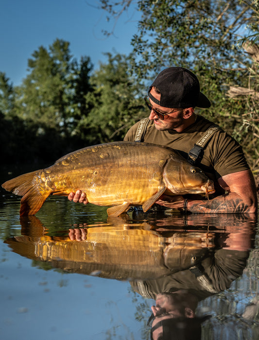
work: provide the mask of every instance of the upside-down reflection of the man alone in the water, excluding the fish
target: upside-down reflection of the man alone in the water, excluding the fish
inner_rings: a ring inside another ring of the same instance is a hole
[[[227,229],[229,233],[216,234],[218,249],[199,264],[163,278],[131,282],[136,292],[155,300],[151,339],[200,339],[204,319],[195,315],[198,302],[229,288],[242,275],[251,249],[249,226]]]

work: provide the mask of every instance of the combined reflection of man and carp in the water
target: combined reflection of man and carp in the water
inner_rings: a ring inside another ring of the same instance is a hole
[[[172,332],[176,339],[200,339],[207,315],[196,315],[197,305],[242,275],[256,223],[251,216],[133,213],[56,230],[32,216],[20,219],[21,235],[5,242],[66,272],[129,280],[135,292],[156,301],[154,339],[172,339]],[[243,318],[256,318],[257,306],[257,300],[247,305]]]

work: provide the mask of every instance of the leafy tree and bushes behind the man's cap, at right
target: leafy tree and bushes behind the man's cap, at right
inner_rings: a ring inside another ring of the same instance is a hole
[[[259,151],[259,143],[255,146],[253,142],[253,124],[243,124],[247,105],[226,94],[231,85],[249,87],[249,81],[254,81],[248,71],[251,60],[238,41],[258,35],[258,1],[100,0],[99,3],[108,17],[115,20],[136,4],[141,19],[138,33],[132,38],[131,69],[140,80],[153,78],[169,66],[193,71],[212,103],[202,114],[241,142],[250,165],[255,168],[258,156],[254,148]],[[258,113],[253,114],[254,122],[257,118]]]

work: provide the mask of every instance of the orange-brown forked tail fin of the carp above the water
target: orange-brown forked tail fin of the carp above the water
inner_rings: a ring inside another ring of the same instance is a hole
[[[38,170],[25,173],[2,184],[5,190],[23,196],[21,199],[20,216],[35,215],[50,195],[48,191],[44,193],[38,191],[33,181],[36,172]]]

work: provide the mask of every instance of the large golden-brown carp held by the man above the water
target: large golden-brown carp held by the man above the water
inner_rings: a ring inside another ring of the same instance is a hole
[[[155,144],[114,142],[81,149],[47,169],[25,173],[2,187],[23,196],[20,215],[34,215],[50,195],[68,196],[81,189],[88,202],[113,206],[118,216],[129,206],[147,211],[169,195],[214,192],[213,182],[176,151]]]

